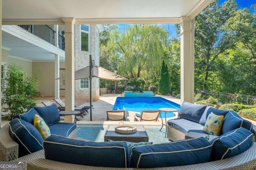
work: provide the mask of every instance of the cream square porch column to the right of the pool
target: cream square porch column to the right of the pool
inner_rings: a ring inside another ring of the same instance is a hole
[[[194,103],[194,19],[180,18],[180,100]]]

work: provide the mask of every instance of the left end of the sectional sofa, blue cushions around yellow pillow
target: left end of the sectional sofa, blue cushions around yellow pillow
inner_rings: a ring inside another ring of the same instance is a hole
[[[61,123],[56,104],[46,107],[32,107],[10,121],[10,137],[18,143],[18,157],[43,149],[43,137],[34,126],[34,116],[42,117],[50,134],[67,138],[76,137],[76,124]],[[50,135],[49,134],[49,135]]]

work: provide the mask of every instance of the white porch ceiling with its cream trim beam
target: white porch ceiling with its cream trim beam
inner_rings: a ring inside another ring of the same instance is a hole
[[[2,0],[2,24],[179,23],[212,0]]]

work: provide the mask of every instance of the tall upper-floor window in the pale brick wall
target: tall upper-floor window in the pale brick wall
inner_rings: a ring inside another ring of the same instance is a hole
[[[81,25],[80,29],[80,45],[81,51],[90,51],[90,26],[89,25]]]

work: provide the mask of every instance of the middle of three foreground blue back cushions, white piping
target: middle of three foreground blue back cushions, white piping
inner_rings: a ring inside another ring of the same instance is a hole
[[[203,137],[134,147],[131,168],[182,166],[208,162],[212,145]]]

